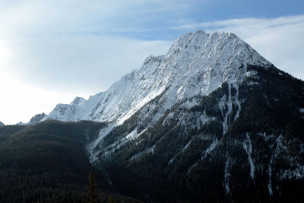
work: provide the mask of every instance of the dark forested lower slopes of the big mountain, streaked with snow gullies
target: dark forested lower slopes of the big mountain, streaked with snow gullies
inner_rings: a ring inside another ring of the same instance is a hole
[[[91,161],[146,202],[300,202],[304,82],[271,65],[246,66],[238,88],[184,98],[151,126],[151,103],[165,98],[147,103],[103,137]]]

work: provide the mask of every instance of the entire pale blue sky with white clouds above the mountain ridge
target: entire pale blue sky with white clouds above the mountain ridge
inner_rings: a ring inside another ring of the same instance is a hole
[[[0,0],[0,121],[88,99],[198,29],[233,32],[304,80],[302,0]]]

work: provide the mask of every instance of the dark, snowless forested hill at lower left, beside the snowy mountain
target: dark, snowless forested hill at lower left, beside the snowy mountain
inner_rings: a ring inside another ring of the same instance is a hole
[[[84,202],[88,174],[97,180],[98,200],[139,202],[119,194],[92,166],[85,144],[106,123],[48,120],[0,127],[0,202]]]

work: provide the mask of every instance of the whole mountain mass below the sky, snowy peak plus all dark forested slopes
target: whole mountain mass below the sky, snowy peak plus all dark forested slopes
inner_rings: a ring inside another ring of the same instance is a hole
[[[304,82],[230,32],[188,32],[42,117],[0,127],[0,201],[82,202],[89,172],[101,201],[302,200]]]

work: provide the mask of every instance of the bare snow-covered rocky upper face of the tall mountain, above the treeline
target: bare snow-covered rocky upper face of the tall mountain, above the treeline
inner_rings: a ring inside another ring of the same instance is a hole
[[[147,57],[140,69],[88,100],[76,97],[70,104],[57,104],[43,120],[121,123],[166,88],[170,90],[164,109],[178,99],[209,94],[224,82],[238,85],[247,63],[270,64],[231,32],[188,32],[173,42],[166,55]]]

